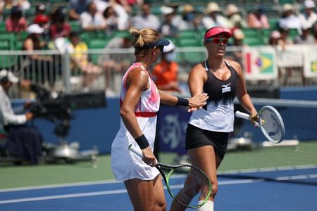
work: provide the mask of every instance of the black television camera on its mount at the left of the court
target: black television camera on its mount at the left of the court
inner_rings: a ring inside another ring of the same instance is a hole
[[[66,160],[74,162],[77,160],[92,160],[93,164],[99,153],[97,149],[90,151],[78,151],[79,144],[72,142],[68,144],[66,136],[73,119],[73,110],[83,108],[104,108],[106,96],[104,91],[90,91],[78,94],[63,94],[51,92],[43,87],[32,84],[30,89],[35,92],[36,100],[32,103],[30,111],[35,118],[44,118],[55,124],[54,134],[58,136],[58,145],[46,146],[46,161],[54,162]],[[44,147],[45,148],[45,147]]]

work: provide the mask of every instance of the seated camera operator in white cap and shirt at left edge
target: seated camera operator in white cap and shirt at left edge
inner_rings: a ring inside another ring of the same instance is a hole
[[[13,157],[30,160],[32,165],[36,165],[38,158],[42,156],[42,134],[36,127],[27,124],[32,120],[33,113],[15,114],[8,98],[8,90],[18,80],[12,72],[0,70],[0,128],[8,132],[6,153]],[[24,108],[28,107],[30,103],[25,103]]]

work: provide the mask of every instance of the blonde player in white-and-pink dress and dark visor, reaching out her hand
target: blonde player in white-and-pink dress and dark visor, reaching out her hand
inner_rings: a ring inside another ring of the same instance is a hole
[[[206,104],[208,96],[179,98],[159,91],[148,69],[169,44],[155,30],[130,30],[135,37],[135,63],[125,73],[120,91],[120,129],[111,147],[111,166],[116,179],[124,181],[134,210],[166,210],[163,183],[153,154],[156,112],[160,103],[188,106],[189,111]],[[143,158],[128,151],[129,144],[141,148]]]

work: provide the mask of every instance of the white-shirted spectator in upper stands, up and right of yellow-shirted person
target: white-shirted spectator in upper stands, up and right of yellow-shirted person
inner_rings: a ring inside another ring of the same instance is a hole
[[[98,13],[97,5],[93,1],[88,5],[87,12],[80,15],[80,25],[85,31],[106,30],[104,16]]]

